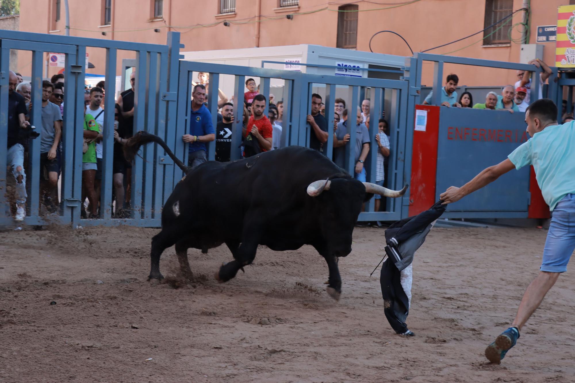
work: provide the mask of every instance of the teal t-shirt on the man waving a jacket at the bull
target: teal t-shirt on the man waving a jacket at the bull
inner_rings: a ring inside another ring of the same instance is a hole
[[[509,154],[515,168],[533,165],[537,184],[551,211],[569,193],[575,193],[575,121],[553,125]]]

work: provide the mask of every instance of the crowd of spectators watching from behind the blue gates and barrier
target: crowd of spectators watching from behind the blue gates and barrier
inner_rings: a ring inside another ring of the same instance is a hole
[[[539,59],[530,64],[542,68],[539,81],[539,95],[542,98],[543,83],[549,78],[551,69]],[[41,105],[33,105],[30,83],[24,82],[20,74],[9,73],[9,109],[7,164],[10,166],[14,186],[14,217],[24,220],[26,215],[26,168],[29,167],[29,139],[39,136],[40,141],[40,198],[48,213],[59,211],[59,179],[62,170],[63,116],[65,76],[57,74],[51,81],[43,81]],[[465,91],[458,97],[459,78],[455,74],[446,77],[445,85],[440,89],[439,104],[445,107],[505,110],[510,113],[524,112],[532,97],[532,72],[517,71],[517,82],[501,89],[500,94],[489,91],[484,102],[474,104],[473,95]],[[130,75],[131,87],[122,91],[114,105],[114,145],[113,145],[113,218],[131,216],[132,165],[125,160],[122,145],[133,135],[135,111],[136,72]],[[189,127],[181,140],[187,144],[188,166],[196,167],[208,160],[208,143],[215,141],[215,159],[229,162],[232,158],[232,136],[236,118],[240,118],[241,156],[246,158],[261,152],[277,150],[282,147],[282,125],[284,124],[283,100],[277,100],[273,94],[259,92],[254,78],[248,78],[243,100],[234,100],[217,89],[217,124],[214,128],[212,114],[208,108],[209,74],[198,73],[197,82],[192,82]],[[213,90],[216,91],[216,90]],[[81,215],[87,219],[101,216],[101,189],[104,158],[104,99],[105,82],[85,90],[85,118],[83,121],[82,147],[82,204]],[[483,101],[483,100],[481,100]],[[356,110],[349,110],[343,98],[333,102],[333,154],[332,160],[338,166],[352,168],[354,178],[366,181],[366,159],[370,150],[377,156],[375,160],[375,180],[378,185],[386,185],[386,170],[390,148],[389,125],[385,113],[377,121],[375,142],[370,139],[370,99],[362,100]],[[434,104],[433,93],[425,97],[423,104]],[[306,116],[309,124],[309,147],[327,155],[329,133],[325,116],[325,104],[320,94],[314,93],[309,100],[310,114]],[[30,122],[34,108],[41,108],[39,129],[32,129]],[[265,113],[267,109],[267,114]],[[350,118],[350,116],[355,116]],[[563,120],[572,120],[566,113],[563,102]],[[80,127],[78,127],[80,129]],[[352,129],[355,129],[355,141],[350,142]],[[238,130],[239,132],[239,130]],[[375,147],[377,145],[377,147]],[[346,163],[346,147],[349,146],[349,163]],[[375,197],[376,199],[378,197]],[[375,211],[384,204],[375,201]]]

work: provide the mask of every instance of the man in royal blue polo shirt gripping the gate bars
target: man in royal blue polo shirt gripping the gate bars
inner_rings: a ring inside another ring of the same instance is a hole
[[[206,87],[198,84],[191,93],[190,134],[183,135],[182,141],[190,144],[187,166],[192,168],[208,160],[206,157],[206,142],[216,139],[216,131],[212,125],[212,114],[204,105]]]

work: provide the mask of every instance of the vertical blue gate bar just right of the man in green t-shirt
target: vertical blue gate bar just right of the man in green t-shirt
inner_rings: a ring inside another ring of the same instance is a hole
[[[114,162],[114,112],[115,101],[113,95],[116,94],[116,58],[117,52],[114,48],[106,49],[106,97],[104,100],[104,131],[102,136],[102,186],[100,193],[101,219],[112,217],[112,173]],[[116,206],[116,211],[121,206]]]

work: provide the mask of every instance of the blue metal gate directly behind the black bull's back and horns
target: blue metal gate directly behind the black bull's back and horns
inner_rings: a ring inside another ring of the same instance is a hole
[[[407,81],[371,79],[371,78],[352,78],[341,76],[307,74],[294,71],[273,70],[266,68],[252,68],[243,66],[230,66],[224,64],[211,64],[199,62],[182,61],[179,65],[179,89],[178,89],[178,124],[175,137],[170,141],[174,145],[175,154],[187,163],[187,144],[184,144],[180,137],[187,133],[189,127],[190,99],[191,99],[191,79],[193,72],[209,73],[210,91],[208,94],[208,105],[212,113],[212,122],[214,127],[217,123],[217,101],[218,85],[220,75],[235,76],[234,99],[243,100],[244,98],[244,81],[249,77],[260,78],[261,93],[267,95],[270,93],[270,80],[273,78],[283,79],[285,81],[284,98],[283,98],[283,123],[282,123],[282,143],[287,145],[299,145],[309,147],[310,126],[306,122],[306,116],[310,114],[310,104],[312,96],[312,87],[314,85],[325,85],[325,118],[328,121],[328,141],[327,150],[324,154],[332,158],[333,150],[333,105],[335,101],[336,86],[349,86],[351,90],[351,103],[348,105],[349,111],[355,111],[361,103],[360,90],[366,87],[371,88],[373,97],[370,104],[370,153],[366,159],[367,181],[375,182],[375,163],[377,156],[374,154],[374,148],[377,148],[375,134],[377,133],[377,121],[382,114],[384,105],[384,92],[389,90],[392,93],[391,110],[386,111],[392,116],[390,129],[390,160],[389,160],[389,177],[388,187],[391,189],[401,189],[407,179],[405,175],[405,145],[407,136],[412,134],[411,129],[406,129],[408,108],[407,108]],[[236,102],[236,104],[238,104]],[[243,105],[243,104],[242,104]],[[267,116],[267,104],[264,111]],[[239,159],[242,129],[243,108],[234,108],[234,124],[232,132],[232,153],[231,159]],[[351,121],[355,122],[354,112],[350,112]],[[355,142],[356,130],[350,129],[350,143],[346,145],[345,168],[350,174],[354,174],[354,158],[351,155],[350,147]],[[208,159],[214,159],[215,141],[208,145]],[[181,178],[181,173],[175,180]],[[374,211],[373,198],[366,205],[366,212],[359,215],[359,221],[393,221],[398,220],[403,215],[407,215],[407,204],[409,198],[388,198],[385,212]],[[405,205],[405,208],[404,208]],[[403,208],[403,212],[402,212]]]

